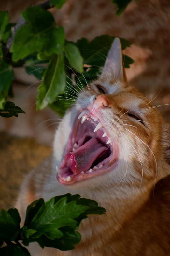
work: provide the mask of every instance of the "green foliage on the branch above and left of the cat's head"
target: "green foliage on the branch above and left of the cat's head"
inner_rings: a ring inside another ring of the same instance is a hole
[[[50,0],[44,4],[60,9],[66,0]],[[130,0],[112,0],[120,14]],[[104,65],[114,36],[102,35],[89,42],[86,38],[76,43],[65,39],[64,28],[55,23],[53,15],[41,6],[31,6],[21,13],[25,23],[15,31],[13,43],[8,50],[11,28],[7,11],[0,12],[0,110],[1,116],[16,116],[19,107],[9,110],[5,102],[11,96],[14,79],[13,67],[24,66],[28,74],[41,80],[38,86],[36,109],[50,107],[60,115],[74,103],[77,92],[95,79]],[[122,49],[130,42],[120,38]],[[123,64],[129,68],[133,60],[123,55]],[[8,110],[9,115],[3,114]]]

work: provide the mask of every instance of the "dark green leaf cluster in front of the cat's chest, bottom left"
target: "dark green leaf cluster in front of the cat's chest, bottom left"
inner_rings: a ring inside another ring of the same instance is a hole
[[[0,255],[30,255],[21,245],[38,242],[40,247],[53,247],[62,251],[73,250],[81,240],[78,227],[89,214],[105,214],[106,210],[96,201],[80,198],[80,195],[65,194],[49,201],[39,199],[26,210],[24,226],[16,208],[0,212]]]

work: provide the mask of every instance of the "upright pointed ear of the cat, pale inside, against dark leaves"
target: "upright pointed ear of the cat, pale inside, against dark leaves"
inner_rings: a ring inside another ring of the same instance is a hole
[[[120,39],[116,37],[111,45],[101,77],[124,80]]]

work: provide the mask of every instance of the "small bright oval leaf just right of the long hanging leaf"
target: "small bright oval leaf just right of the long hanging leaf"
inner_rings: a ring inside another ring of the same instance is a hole
[[[66,42],[64,45],[65,54],[70,62],[70,65],[78,72],[83,72],[83,58],[79,52],[78,47],[73,44]]]

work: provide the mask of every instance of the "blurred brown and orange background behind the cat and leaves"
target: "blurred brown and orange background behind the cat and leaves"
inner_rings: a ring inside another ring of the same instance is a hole
[[[1,0],[0,11],[8,10],[10,22],[17,22],[21,11],[36,5],[36,0]],[[60,10],[50,9],[66,39],[92,40],[108,34],[132,43],[124,50],[134,59],[126,69],[131,85],[153,100],[155,106],[170,104],[170,2],[169,0],[132,1],[120,16],[111,0],[67,0]],[[0,208],[15,205],[24,175],[52,152],[55,129],[60,118],[51,109],[36,111],[38,81],[15,68],[13,102],[26,114],[0,117]],[[170,105],[159,107],[170,122]]]

